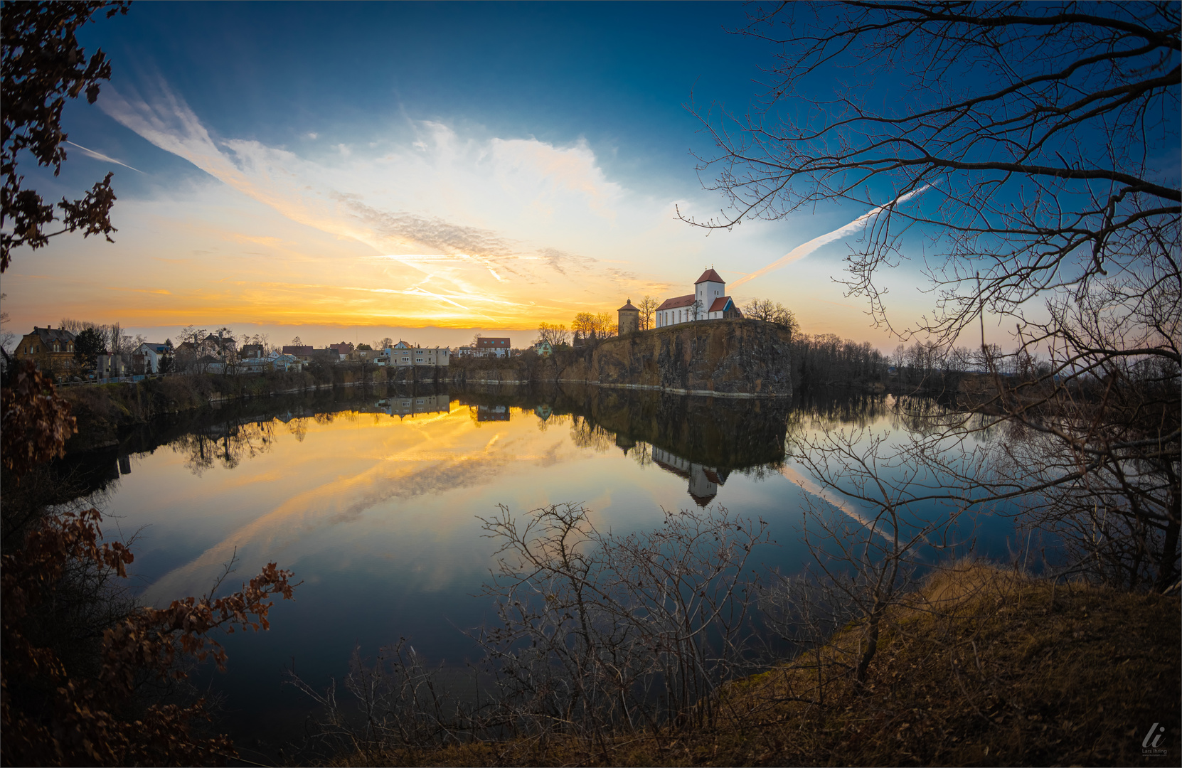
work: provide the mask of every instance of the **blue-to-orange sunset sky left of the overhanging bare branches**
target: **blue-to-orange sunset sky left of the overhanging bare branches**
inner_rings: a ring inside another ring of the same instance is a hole
[[[60,176],[113,171],[115,243],[18,252],[9,331],[61,318],[150,340],[183,326],[274,344],[533,340],[539,323],[693,291],[781,301],[807,333],[881,349],[834,282],[871,208],[707,232],[726,207],[687,109],[745,110],[766,43],[740,4],[135,4],[79,38],[113,65],[69,104]],[[883,201],[889,202],[889,201]],[[859,219],[862,217],[862,219]],[[896,317],[930,305],[918,267]]]

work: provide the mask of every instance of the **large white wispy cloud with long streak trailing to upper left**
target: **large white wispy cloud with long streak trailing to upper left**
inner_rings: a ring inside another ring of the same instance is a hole
[[[256,141],[216,138],[167,84],[151,91],[143,98],[104,89],[100,106],[291,221],[372,248],[384,276],[402,284],[404,295],[426,301],[403,307],[411,315],[442,305],[528,312],[539,286],[550,297],[582,302],[639,279],[635,271],[597,269],[593,258],[538,242],[547,232],[603,232],[618,219],[626,193],[605,177],[584,142],[564,148],[535,139],[461,139],[450,128],[426,122],[414,126],[414,143],[387,142],[370,156],[358,149],[364,142],[337,143],[331,155],[312,160]]]

